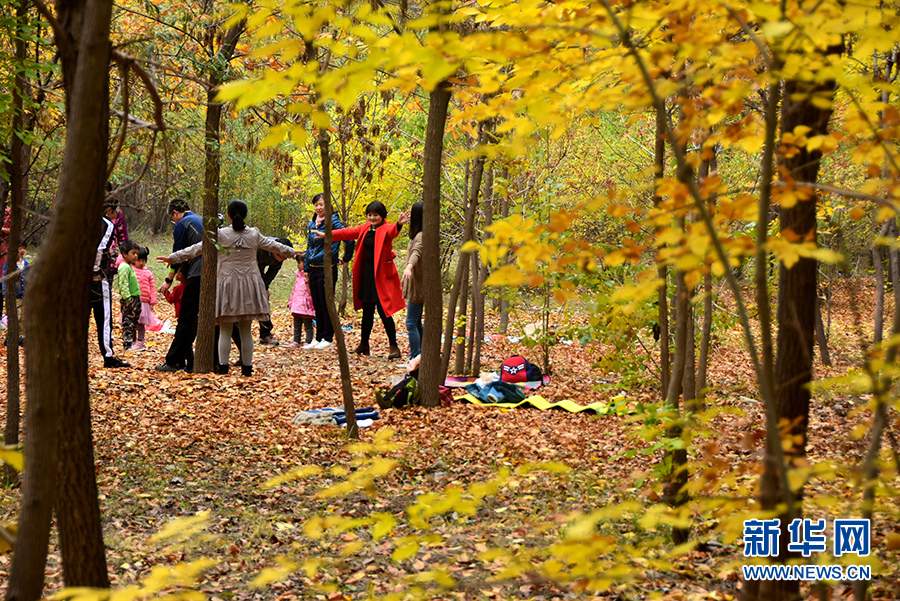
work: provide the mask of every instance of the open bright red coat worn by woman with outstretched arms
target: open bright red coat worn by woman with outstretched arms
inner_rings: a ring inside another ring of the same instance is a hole
[[[359,227],[347,227],[331,232],[335,242],[344,240],[356,240],[356,254],[353,257],[353,308],[362,309],[362,301],[359,300],[359,285],[362,281],[362,261],[360,253],[363,252],[363,240],[369,224]],[[385,315],[393,315],[400,309],[406,308],[403,301],[403,292],[400,290],[400,275],[397,266],[394,265],[394,238],[400,234],[397,225],[385,222],[375,229],[375,290],[378,291],[378,300]]]

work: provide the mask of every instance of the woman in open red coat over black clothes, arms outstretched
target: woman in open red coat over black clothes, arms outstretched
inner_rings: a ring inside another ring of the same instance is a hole
[[[388,359],[400,358],[397,346],[397,328],[391,317],[406,308],[400,291],[400,276],[394,265],[393,241],[400,234],[400,227],[409,221],[404,213],[397,223],[388,223],[387,209],[377,200],[366,207],[365,223],[359,227],[344,228],[331,233],[334,242],[356,240],[353,261],[353,308],[363,310],[362,339],[353,351],[358,355],[369,354],[369,336],[375,323],[375,310],[384,324],[391,352]]]

